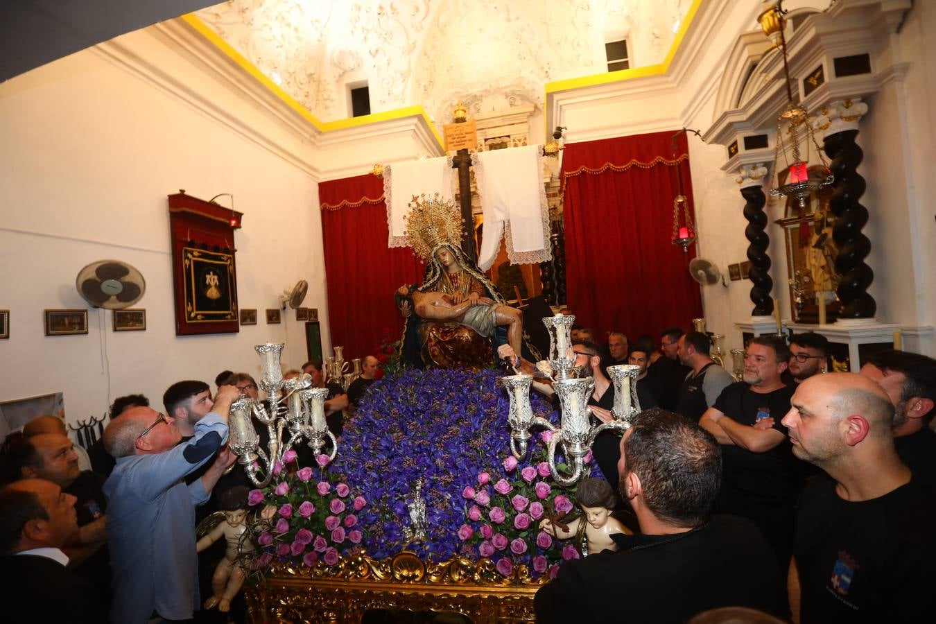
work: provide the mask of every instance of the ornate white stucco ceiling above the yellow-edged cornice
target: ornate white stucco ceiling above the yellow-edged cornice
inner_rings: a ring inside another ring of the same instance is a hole
[[[438,124],[533,104],[547,82],[607,71],[626,37],[631,66],[665,58],[690,0],[229,0],[197,16],[323,122],[422,105]]]

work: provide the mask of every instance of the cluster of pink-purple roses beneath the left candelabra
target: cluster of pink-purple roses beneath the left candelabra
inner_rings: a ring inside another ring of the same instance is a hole
[[[358,517],[367,500],[352,495],[343,480],[330,474],[326,455],[316,457],[315,468],[299,467],[293,450],[283,460],[285,466],[276,462],[273,467],[270,485],[251,490],[247,497],[249,505],[263,505],[272,513],[269,527],[257,537],[262,552],[254,565],[266,567],[273,559],[334,565],[341,553],[363,541],[364,525]],[[297,470],[285,470],[293,467],[290,464]]]

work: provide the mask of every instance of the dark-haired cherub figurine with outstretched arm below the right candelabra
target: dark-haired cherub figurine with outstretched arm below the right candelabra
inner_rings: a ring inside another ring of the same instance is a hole
[[[615,501],[617,497],[607,481],[585,479],[578,484],[576,490],[576,504],[584,515],[576,516],[564,529],[558,522],[553,526],[553,522],[548,519],[541,520],[539,528],[561,540],[575,537],[577,544],[584,540],[588,549],[583,555],[594,555],[602,550],[617,550],[618,544],[614,543],[611,535],[630,531],[625,529],[617,518],[611,516]]]

